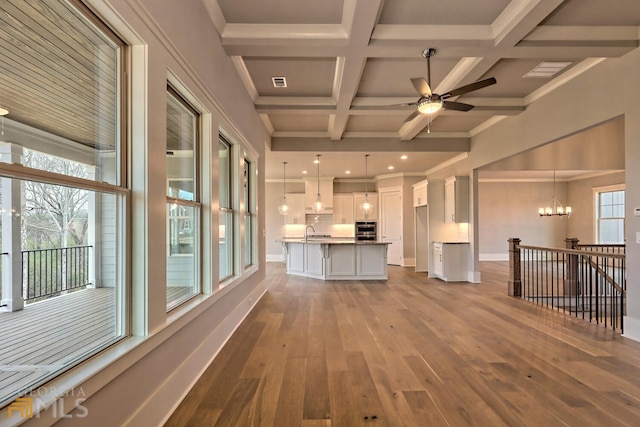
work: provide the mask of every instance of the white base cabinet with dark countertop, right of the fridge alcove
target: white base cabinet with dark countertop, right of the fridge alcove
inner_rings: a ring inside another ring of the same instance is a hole
[[[468,280],[469,243],[433,242],[432,268],[429,277],[445,282]]]

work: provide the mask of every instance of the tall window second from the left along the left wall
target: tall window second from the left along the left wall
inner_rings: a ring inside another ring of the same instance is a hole
[[[167,89],[167,310],[200,293],[199,115]]]

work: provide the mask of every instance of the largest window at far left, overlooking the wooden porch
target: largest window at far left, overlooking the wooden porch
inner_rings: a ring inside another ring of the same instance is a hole
[[[3,0],[0,28],[6,405],[128,334],[129,195],[124,44],[60,0]]]

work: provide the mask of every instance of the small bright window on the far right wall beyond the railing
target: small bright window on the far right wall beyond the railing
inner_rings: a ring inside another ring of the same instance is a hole
[[[596,189],[596,243],[624,243],[624,187]]]

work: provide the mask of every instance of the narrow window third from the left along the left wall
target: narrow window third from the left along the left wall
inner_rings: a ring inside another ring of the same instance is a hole
[[[233,275],[233,162],[231,144],[220,136],[218,142],[218,170],[220,182],[220,281]]]

